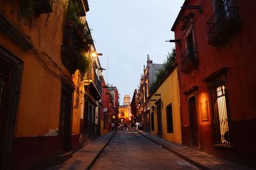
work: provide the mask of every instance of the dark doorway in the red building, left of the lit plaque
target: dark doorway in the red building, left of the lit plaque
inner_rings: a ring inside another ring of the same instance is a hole
[[[198,122],[196,113],[196,98],[195,96],[189,98],[189,118],[190,118],[190,132],[191,132],[191,147],[198,147]]]

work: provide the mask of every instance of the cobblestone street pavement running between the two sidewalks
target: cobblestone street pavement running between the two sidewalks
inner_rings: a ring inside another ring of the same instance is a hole
[[[92,169],[198,169],[138,132],[118,131]]]

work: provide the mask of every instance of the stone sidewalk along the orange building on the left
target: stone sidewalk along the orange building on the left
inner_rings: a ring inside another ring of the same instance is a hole
[[[99,157],[100,153],[108,145],[111,138],[113,138],[115,132],[108,132],[104,136],[96,139],[92,143],[84,146],[76,153],[73,154],[71,159],[68,159],[67,162],[51,167],[49,170],[57,169],[89,169],[93,162]]]

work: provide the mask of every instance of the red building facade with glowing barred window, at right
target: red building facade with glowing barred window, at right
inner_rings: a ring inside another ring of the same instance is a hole
[[[255,5],[186,0],[172,27],[182,144],[254,168]]]

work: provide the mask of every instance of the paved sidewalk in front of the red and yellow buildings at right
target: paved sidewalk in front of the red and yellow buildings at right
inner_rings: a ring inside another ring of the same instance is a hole
[[[136,131],[134,129],[134,131]],[[166,139],[159,138],[157,136],[153,136],[144,131],[138,131],[142,136],[150,141],[153,141],[157,145],[169,150],[175,155],[178,155],[184,160],[187,160],[191,164],[199,167],[200,169],[214,169],[214,170],[228,170],[228,169],[236,169],[236,170],[249,170],[250,168],[244,167],[238,164],[234,164],[232,162],[228,162],[227,160],[219,159],[218,157],[214,157],[213,155],[209,155],[205,152],[200,152],[193,148],[189,148],[188,146],[179,145],[177,143],[172,143]]]

